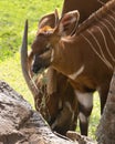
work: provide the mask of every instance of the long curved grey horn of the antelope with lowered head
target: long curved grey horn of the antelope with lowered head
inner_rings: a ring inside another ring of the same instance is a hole
[[[29,75],[29,70],[28,70],[28,20],[25,21],[24,25],[24,33],[23,33],[23,40],[22,40],[22,47],[21,47],[21,69],[23,76],[25,79],[25,82],[31,90],[33,96],[35,97],[39,95],[39,90],[35,85],[35,83],[31,80]]]

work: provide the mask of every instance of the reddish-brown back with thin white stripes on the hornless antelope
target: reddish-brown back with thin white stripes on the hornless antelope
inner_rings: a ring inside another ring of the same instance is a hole
[[[77,35],[82,35],[98,59],[111,70],[113,70],[115,63],[114,19],[115,0],[111,0],[84,21],[76,31],[76,38]]]

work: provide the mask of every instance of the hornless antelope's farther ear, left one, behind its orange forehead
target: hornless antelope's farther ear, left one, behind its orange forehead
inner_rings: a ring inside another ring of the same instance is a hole
[[[51,28],[55,27],[55,23],[59,21],[59,14],[58,11],[55,10],[55,12],[46,14],[44,17],[42,17],[39,21],[39,29],[49,25]]]

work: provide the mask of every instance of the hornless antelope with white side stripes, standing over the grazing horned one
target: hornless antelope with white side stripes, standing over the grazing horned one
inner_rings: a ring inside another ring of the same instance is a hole
[[[32,43],[33,71],[52,66],[66,75],[76,90],[79,102],[84,101],[85,89],[90,93],[97,90],[104,107],[115,62],[114,18],[115,0],[112,0],[81,24],[72,37],[65,37],[65,32],[79,20],[77,11],[65,13],[53,29],[39,29]]]

